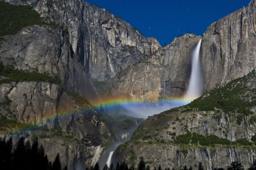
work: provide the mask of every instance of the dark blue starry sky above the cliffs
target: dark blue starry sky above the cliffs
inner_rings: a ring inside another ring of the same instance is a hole
[[[86,0],[121,16],[163,46],[188,33],[202,35],[215,20],[247,6],[250,0]]]

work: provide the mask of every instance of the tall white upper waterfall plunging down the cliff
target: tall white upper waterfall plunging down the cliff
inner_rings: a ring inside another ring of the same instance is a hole
[[[202,39],[197,43],[192,53],[192,68],[185,98],[196,99],[203,94],[203,77],[199,65],[199,51]]]

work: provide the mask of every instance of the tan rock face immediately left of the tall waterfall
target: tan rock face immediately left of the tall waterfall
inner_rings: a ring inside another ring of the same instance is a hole
[[[201,36],[185,34],[147,59],[118,73],[109,83],[115,96],[147,101],[180,97],[190,76],[191,52]]]

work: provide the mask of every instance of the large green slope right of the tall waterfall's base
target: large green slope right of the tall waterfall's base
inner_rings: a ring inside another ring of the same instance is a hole
[[[194,101],[192,101],[188,106],[191,108],[198,108],[200,111],[215,110],[216,108],[221,108],[224,112],[237,112],[242,115],[253,114],[248,108],[256,106],[256,100],[251,102],[248,100],[250,96],[255,96],[255,90],[246,88],[246,82],[248,78],[255,76],[255,71],[253,70],[247,76],[243,78],[238,78],[232,80],[228,84],[211,90],[207,96],[202,96]],[[244,94],[247,92],[246,98],[243,99]],[[241,118],[240,118],[241,119]],[[238,121],[238,123],[240,120]]]

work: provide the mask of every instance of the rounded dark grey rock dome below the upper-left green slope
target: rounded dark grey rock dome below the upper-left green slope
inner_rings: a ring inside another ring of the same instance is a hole
[[[88,74],[77,62],[67,33],[50,26],[29,26],[15,35],[4,36],[0,59],[4,65],[60,78],[64,88],[94,102],[100,99]],[[86,87],[86,88],[84,88]]]

